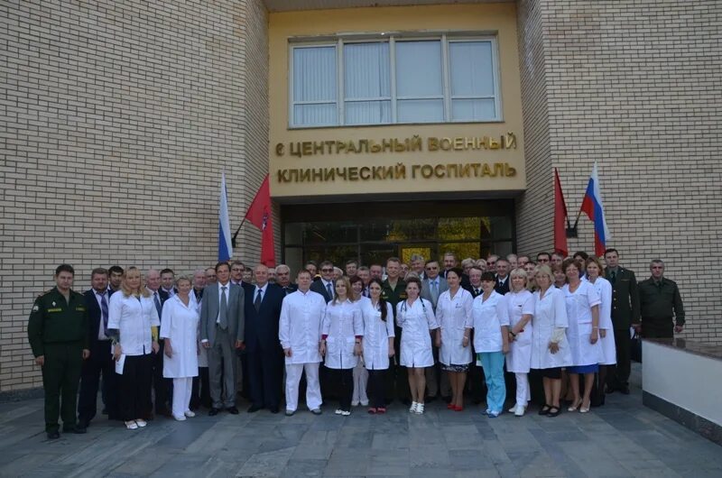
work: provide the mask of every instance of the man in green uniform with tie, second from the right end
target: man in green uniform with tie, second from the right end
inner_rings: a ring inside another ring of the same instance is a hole
[[[615,328],[616,370],[606,376],[606,391],[629,393],[631,371],[630,326],[639,326],[639,291],[634,272],[619,266],[619,253],[607,249],[606,280],[612,284],[612,326]]]

